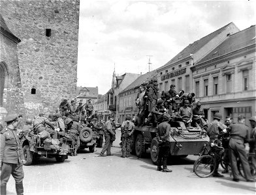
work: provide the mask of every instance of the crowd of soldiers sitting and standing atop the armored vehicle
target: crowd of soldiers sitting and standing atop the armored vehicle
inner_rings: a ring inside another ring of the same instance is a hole
[[[144,88],[140,86],[140,91],[136,97],[136,106],[138,113],[135,117],[136,125],[157,126],[163,120],[163,114],[168,113],[175,120],[182,120],[186,127],[199,124],[201,127],[207,127],[208,123],[204,116],[204,110],[201,109],[200,102],[194,109],[195,94],[184,93],[184,90],[176,92],[175,85],[170,85],[167,92],[159,91],[157,81],[151,81]]]

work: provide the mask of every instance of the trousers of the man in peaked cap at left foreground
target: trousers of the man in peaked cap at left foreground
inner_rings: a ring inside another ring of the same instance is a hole
[[[12,163],[3,162],[3,165],[1,168],[1,194],[2,195],[5,195],[6,193],[6,186],[10,178],[10,175],[14,177],[17,194],[23,193],[24,189],[23,189],[22,181],[24,179],[24,171],[22,166],[23,166],[22,163],[12,164]]]

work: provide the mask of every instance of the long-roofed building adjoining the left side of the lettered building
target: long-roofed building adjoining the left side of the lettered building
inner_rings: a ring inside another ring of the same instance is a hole
[[[139,91],[139,86],[147,83],[151,79],[157,79],[156,70],[145,73],[144,75],[140,75],[140,77],[133,81],[131,85],[127,86],[124,90],[120,92],[120,94],[118,95],[118,123],[123,122],[126,115],[129,114],[131,116],[135,116],[135,114],[138,112],[135,101]]]

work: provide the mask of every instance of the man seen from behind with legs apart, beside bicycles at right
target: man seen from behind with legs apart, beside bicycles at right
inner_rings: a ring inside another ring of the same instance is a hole
[[[243,115],[240,115],[238,116],[238,123],[232,123],[228,129],[223,129],[223,132],[229,132],[229,135],[231,135],[231,139],[229,140],[229,157],[231,160],[233,181],[238,182],[240,180],[237,168],[238,158],[242,163],[246,181],[255,182],[255,179],[251,176],[246,149],[244,147],[244,141],[249,140],[249,127],[244,123],[245,118]]]

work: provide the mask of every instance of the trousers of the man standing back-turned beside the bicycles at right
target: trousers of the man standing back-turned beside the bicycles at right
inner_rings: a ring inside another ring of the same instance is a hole
[[[236,138],[231,138],[229,140],[229,158],[231,161],[231,170],[234,179],[239,179],[237,158],[241,161],[246,179],[252,179],[245,148],[246,146],[244,145],[243,140]]]

